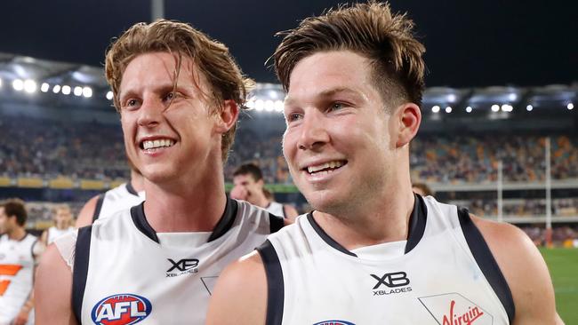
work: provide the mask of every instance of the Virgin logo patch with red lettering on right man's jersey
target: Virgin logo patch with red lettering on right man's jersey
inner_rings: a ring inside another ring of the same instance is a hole
[[[494,316],[459,293],[418,297],[440,325],[492,325]]]

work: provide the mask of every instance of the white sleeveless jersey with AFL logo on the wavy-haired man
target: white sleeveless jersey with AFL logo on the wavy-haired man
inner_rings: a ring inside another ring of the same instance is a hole
[[[222,269],[261,245],[283,219],[228,200],[213,233],[157,234],[143,205],[57,240],[74,258],[73,309],[82,324],[205,324]],[[68,246],[68,248],[66,247]]]

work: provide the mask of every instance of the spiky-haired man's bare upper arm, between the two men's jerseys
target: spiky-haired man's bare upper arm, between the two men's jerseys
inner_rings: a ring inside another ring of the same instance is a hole
[[[259,253],[227,266],[213,291],[207,325],[265,324],[267,276]]]

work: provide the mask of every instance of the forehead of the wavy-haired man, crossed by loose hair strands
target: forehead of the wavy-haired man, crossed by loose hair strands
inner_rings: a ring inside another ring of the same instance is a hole
[[[198,72],[193,59],[181,56],[178,66],[177,54],[169,52],[148,52],[137,55],[124,69],[120,83],[120,93],[141,91],[146,87],[173,84],[179,68],[177,83],[180,86],[203,85],[203,75]]]

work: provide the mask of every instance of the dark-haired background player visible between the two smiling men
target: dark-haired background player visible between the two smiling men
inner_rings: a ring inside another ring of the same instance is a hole
[[[233,185],[230,192],[232,199],[245,200],[290,220],[299,215],[292,205],[275,202],[274,195],[265,188],[261,168],[254,163],[245,163],[233,172]]]

